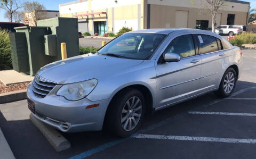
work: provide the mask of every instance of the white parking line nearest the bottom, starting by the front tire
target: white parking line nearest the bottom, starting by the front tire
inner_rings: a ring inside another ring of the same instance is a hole
[[[233,138],[214,138],[214,137],[195,137],[195,136],[165,136],[165,135],[139,134],[137,136],[134,136],[133,138],[256,144],[256,139],[233,139]]]

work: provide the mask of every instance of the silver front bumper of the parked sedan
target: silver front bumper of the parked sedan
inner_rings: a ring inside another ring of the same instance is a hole
[[[52,91],[54,92],[54,89]],[[111,99],[90,101],[83,98],[79,101],[68,101],[64,97],[55,95],[52,91],[42,98],[34,95],[30,84],[27,88],[27,97],[35,103],[35,114],[33,115],[38,120],[63,132],[102,129],[107,106]],[[99,104],[99,106],[86,108],[93,104]]]

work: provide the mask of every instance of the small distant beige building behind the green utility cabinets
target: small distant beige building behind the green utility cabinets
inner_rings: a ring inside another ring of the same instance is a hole
[[[33,12],[23,13],[23,23],[28,26],[36,26],[36,20],[59,17],[59,11],[52,10],[34,10]]]

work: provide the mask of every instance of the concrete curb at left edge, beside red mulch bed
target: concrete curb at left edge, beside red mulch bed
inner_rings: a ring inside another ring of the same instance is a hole
[[[19,101],[22,99],[27,99],[27,90],[26,89],[0,94],[0,104]]]

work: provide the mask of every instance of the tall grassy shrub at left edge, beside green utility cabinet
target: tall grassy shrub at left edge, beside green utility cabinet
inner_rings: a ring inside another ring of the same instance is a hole
[[[0,29],[0,70],[12,69],[9,32]]]

